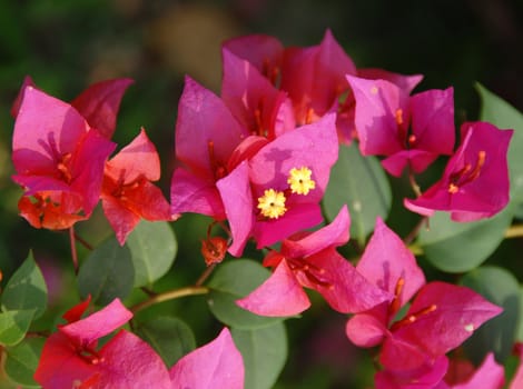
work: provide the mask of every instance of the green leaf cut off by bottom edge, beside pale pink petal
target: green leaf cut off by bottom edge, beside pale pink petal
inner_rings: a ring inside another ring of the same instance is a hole
[[[244,357],[245,388],[273,388],[287,360],[287,333],[282,322],[269,327],[231,329],[233,339]]]

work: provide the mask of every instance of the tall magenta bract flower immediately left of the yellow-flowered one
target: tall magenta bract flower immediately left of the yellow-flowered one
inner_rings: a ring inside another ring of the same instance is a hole
[[[176,168],[171,181],[171,212],[197,212],[225,219],[216,181],[230,170],[229,158],[248,137],[216,94],[186,78],[176,123]]]

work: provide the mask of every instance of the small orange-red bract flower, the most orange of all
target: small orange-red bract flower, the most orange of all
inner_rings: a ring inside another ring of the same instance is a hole
[[[106,163],[102,207],[120,245],[141,218],[149,221],[176,219],[161,190],[151,183],[159,178],[158,152],[144,129]]]

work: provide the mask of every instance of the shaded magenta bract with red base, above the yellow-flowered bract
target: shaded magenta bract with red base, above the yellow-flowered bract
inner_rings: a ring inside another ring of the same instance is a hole
[[[293,104],[250,62],[223,52],[221,99],[251,134],[269,140],[295,128]]]

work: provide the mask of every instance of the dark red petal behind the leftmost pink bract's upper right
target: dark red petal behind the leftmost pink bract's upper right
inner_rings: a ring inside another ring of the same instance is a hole
[[[71,106],[90,127],[110,139],[115,132],[121,98],[132,82],[131,79],[116,79],[93,83],[72,100]]]

